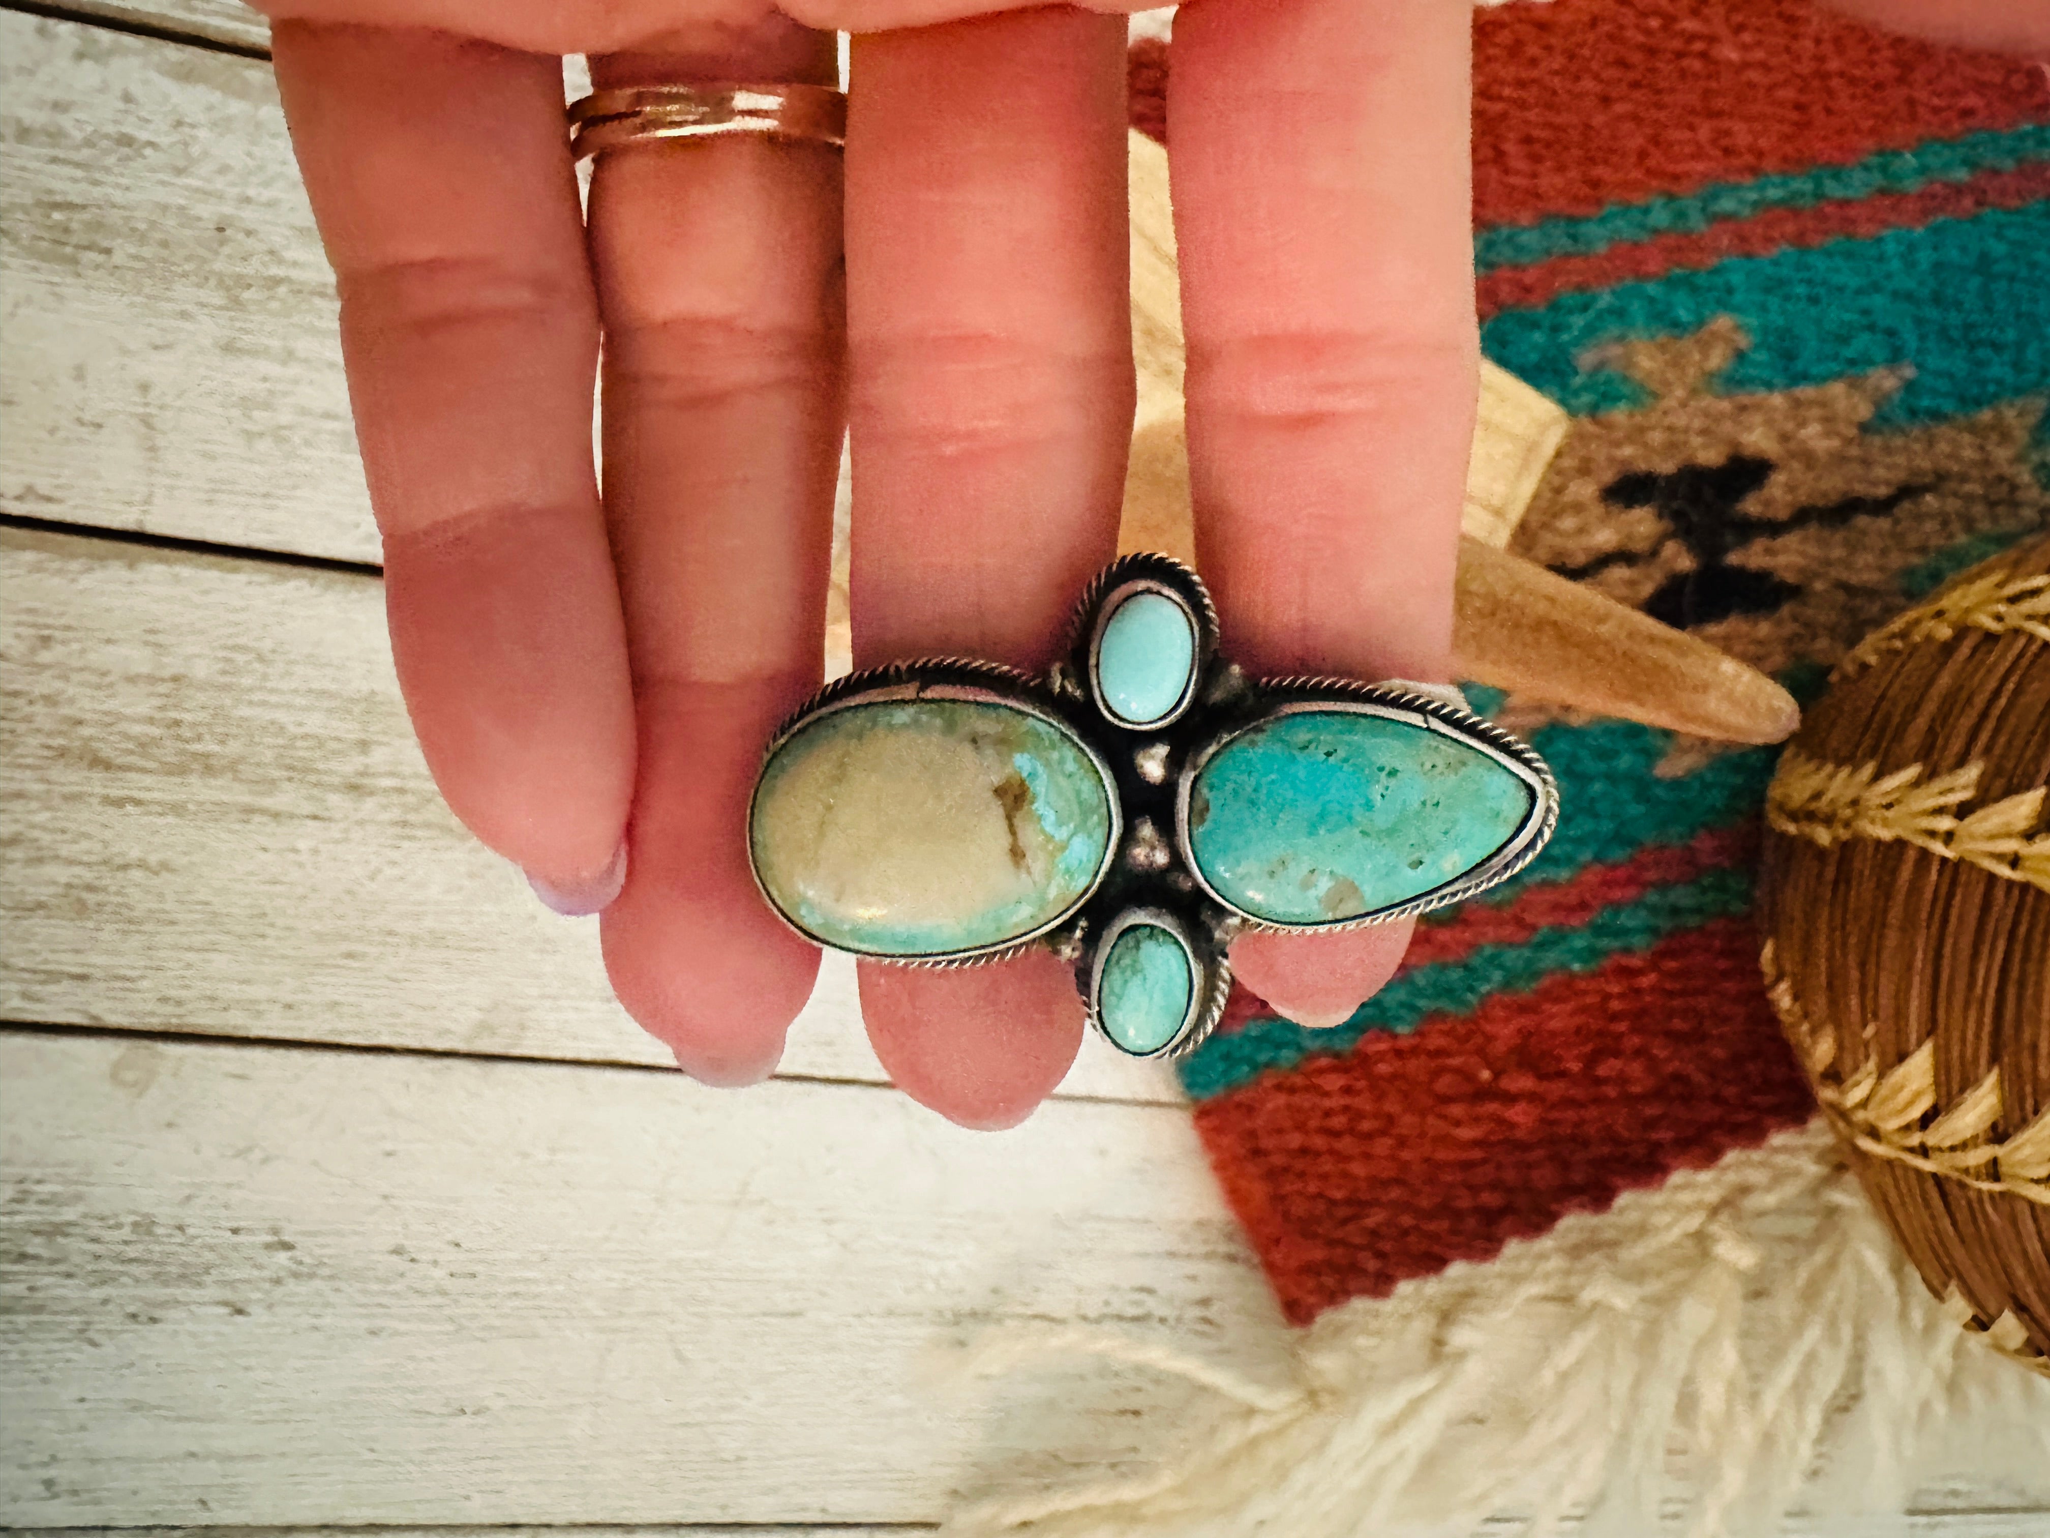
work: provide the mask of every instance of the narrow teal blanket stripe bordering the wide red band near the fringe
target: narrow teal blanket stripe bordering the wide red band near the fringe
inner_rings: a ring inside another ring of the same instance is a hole
[[[1210,1099],[1267,1068],[1349,1052],[1367,1031],[1414,1031],[1431,1015],[1466,1015],[1494,993],[1527,993],[1552,972],[1593,972],[1611,956],[1656,945],[1671,933],[1728,919],[1751,906],[1751,872],[1714,869],[1685,886],[1663,886],[1636,902],[1603,908],[1572,929],[1540,929],[1521,945],[1482,945],[1460,962],[1404,972],[1328,1031],[1285,1019],[1253,1019],[1210,1038],[1181,1066],[1183,1089]]]

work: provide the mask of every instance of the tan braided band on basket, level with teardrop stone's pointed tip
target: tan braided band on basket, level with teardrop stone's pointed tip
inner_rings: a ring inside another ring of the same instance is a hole
[[[1880,775],[1872,763],[1822,763],[1790,748],[1765,792],[1765,820],[1824,849],[1849,839],[1911,843],[2050,892],[2050,833],[2034,833],[2044,814],[2042,785],[1956,814],[1954,808],[1978,794],[1982,769],[1982,763],[1968,763],[1929,775],[1911,763]]]

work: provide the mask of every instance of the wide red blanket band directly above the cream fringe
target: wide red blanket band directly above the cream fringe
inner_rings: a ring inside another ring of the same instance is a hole
[[[1224,1191],[1302,1325],[1804,1122],[1808,1087],[1718,921],[1414,1036],[1195,1109]]]

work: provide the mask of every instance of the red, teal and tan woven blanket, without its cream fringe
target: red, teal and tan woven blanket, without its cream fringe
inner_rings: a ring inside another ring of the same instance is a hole
[[[2050,80],[1777,0],[1482,12],[1482,349],[1576,418],[1515,548],[1812,695],[2050,498]],[[1560,779],[1517,882],[1347,1025],[1185,1068],[1289,1319],[1812,1111],[1759,986],[1769,751],[1490,695]]]

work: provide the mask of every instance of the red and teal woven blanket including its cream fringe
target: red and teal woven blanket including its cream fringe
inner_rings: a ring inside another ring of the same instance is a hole
[[[2050,519],[2042,66],[1800,0],[1507,4],[1474,55],[1482,347],[1574,416],[1519,554],[1812,699],[1865,632]],[[1156,137],[1166,68],[1134,45]],[[1183,1068],[1310,1327],[1302,1394],[1246,1386],[1189,1468],[1013,1520],[1558,1515],[1630,1481],[1654,1503],[1679,1435],[1697,1526],[1763,1532],[1851,1401],[1878,1499],[1970,1419],[1943,1394],[1978,1374],[2017,1397],[1995,1423],[2050,1427],[2025,1374],[1931,1333],[1810,1126],[1751,919],[1775,755],[1472,693],[1554,765],[1552,845],[1427,919],[1339,1029],[1240,993]],[[2050,1468],[2046,1446],[1999,1472]]]

